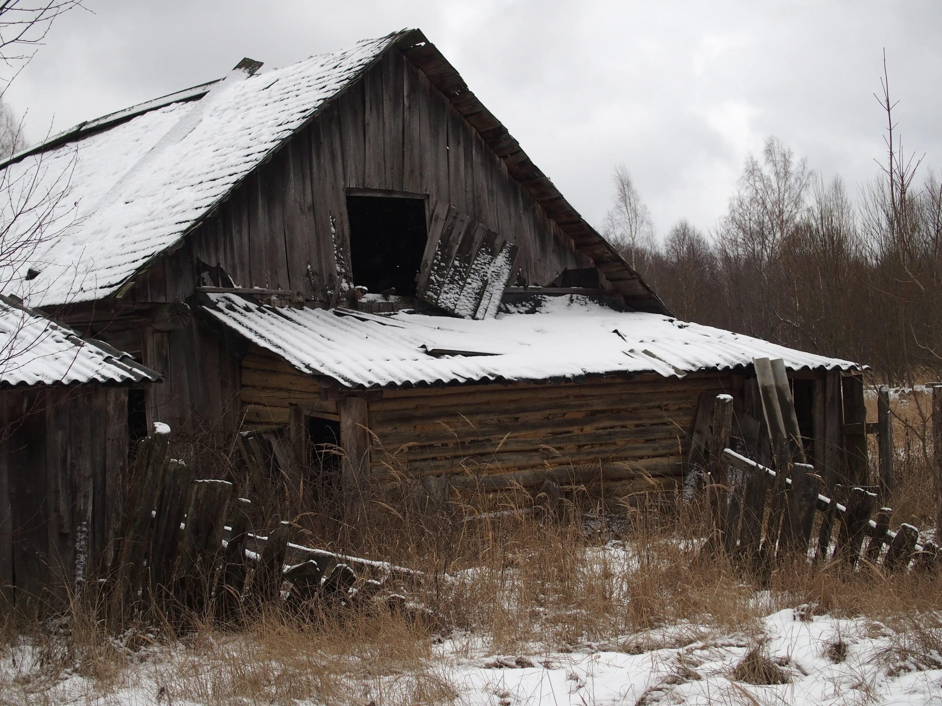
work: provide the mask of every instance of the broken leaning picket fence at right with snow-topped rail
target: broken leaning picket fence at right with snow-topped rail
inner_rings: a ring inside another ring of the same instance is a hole
[[[939,547],[920,544],[912,524],[890,530],[892,510],[877,506],[876,493],[839,484],[822,488],[823,479],[804,456],[782,361],[754,362],[776,470],[729,448],[733,399],[718,395],[707,443],[710,547],[722,546],[737,563],[763,570],[776,559],[801,555],[852,570],[862,563],[888,572],[934,570]],[[889,451],[882,446],[882,455],[892,453],[891,442]]]

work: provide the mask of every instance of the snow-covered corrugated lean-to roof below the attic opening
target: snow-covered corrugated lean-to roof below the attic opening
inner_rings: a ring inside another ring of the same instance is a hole
[[[418,313],[262,306],[229,294],[203,307],[298,370],[347,387],[546,380],[697,370],[781,358],[788,368],[858,369],[751,336],[655,313],[619,313],[584,297],[549,297],[540,313],[473,321]]]

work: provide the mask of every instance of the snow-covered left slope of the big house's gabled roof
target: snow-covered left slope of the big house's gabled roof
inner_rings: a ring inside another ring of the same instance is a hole
[[[43,199],[56,206],[43,241],[26,262],[0,268],[0,281],[31,306],[114,294],[397,37],[249,78],[233,72],[200,100],[158,107],[9,165],[0,221],[12,221],[13,232],[5,242],[29,232],[46,210],[37,210]]]

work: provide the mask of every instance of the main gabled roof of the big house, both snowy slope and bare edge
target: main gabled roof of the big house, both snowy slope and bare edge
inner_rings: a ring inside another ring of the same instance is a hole
[[[0,218],[12,222],[11,238],[25,237],[40,215],[49,225],[28,257],[0,272],[11,282],[8,291],[31,306],[119,294],[394,47],[427,73],[629,306],[666,311],[418,30],[270,72],[249,75],[257,65],[236,69],[219,81],[80,123],[14,155],[0,172],[11,195]]]

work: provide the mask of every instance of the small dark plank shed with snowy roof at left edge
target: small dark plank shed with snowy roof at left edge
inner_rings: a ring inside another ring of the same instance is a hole
[[[0,595],[81,581],[122,503],[128,400],[159,376],[0,297]],[[132,409],[133,411],[133,409]]]

